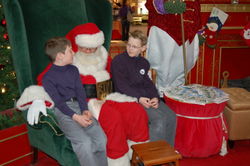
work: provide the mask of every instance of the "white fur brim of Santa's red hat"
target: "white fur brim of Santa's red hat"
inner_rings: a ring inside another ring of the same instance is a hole
[[[81,47],[95,48],[104,43],[104,34],[102,31],[95,34],[81,34],[76,36],[76,44]]]

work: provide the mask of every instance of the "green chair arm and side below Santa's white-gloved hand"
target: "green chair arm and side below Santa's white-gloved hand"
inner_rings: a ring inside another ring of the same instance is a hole
[[[34,147],[32,163],[37,162],[39,149],[57,160],[60,165],[80,166],[70,141],[57,124],[53,111],[53,109],[47,109],[48,115],[40,115],[38,124],[27,125],[29,141]],[[27,111],[24,111],[23,114],[26,117]]]

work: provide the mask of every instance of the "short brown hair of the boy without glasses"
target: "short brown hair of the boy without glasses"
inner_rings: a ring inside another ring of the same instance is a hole
[[[54,37],[45,43],[45,53],[52,62],[55,61],[57,53],[65,53],[67,46],[71,46],[70,41],[65,37]]]

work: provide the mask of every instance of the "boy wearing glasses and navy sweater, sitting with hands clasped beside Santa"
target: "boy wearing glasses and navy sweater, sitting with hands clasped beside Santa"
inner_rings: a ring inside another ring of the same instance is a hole
[[[146,50],[147,36],[142,31],[130,33],[126,51],[117,55],[111,64],[115,91],[136,97],[149,118],[151,141],[164,139],[174,146],[176,115],[164,104],[148,76],[150,64],[142,52]]]

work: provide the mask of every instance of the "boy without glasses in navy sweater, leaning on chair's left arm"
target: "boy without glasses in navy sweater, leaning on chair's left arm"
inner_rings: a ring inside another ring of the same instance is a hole
[[[55,103],[60,128],[71,141],[81,166],[107,166],[106,136],[87,107],[73,51],[65,37],[48,40],[45,52],[53,65],[43,77],[44,89]]]

